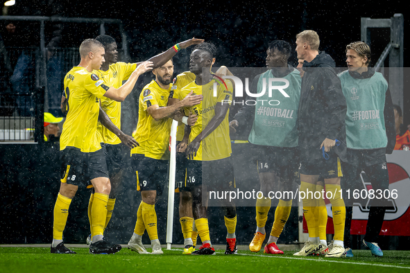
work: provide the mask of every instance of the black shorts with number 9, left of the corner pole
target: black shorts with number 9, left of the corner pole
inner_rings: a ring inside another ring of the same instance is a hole
[[[138,164],[137,191],[157,191],[162,195],[168,181],[168,160],[144,157]]]

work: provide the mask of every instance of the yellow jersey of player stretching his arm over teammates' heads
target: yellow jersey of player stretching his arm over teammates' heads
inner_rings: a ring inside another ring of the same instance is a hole
[[[137,68],[137,64],[129,64],[126,62],[117,62],[110,65],[108,71],[94,70],[95,73],[105,85],[109,87],[121,87],[123,80],[128,80],[131,74]],[[121,130],[121,103],[110,98],[101,98],[101,108],[110,117],[112,123]],[[121,140],[104,127],[100,122],[97,125],[97,137],[100,142],[108,144],[119,144]]]

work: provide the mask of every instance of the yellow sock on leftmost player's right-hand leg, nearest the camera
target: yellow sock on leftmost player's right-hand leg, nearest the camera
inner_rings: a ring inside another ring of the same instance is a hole
[[[108,194],[94,193],[94,200],[92,200],[91,208],[92,237],[104,234],[105,218],[107,217],[107,202]]]

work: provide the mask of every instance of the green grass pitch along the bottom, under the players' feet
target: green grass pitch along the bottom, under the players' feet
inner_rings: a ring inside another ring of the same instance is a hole
[[[77,254],[50,254],[49,248],[40,247],[0,247],[0,272],[410,272],[407,251],[384,251],[383,258],[371,256],[368,250],[354,250],[353,258],[299,258],[293,252],[273,256],[239,251],[228,256],[219,250],[214,256],[183,256],[182,249],[163,249],[163,255],[121,249],[114,255],[92,255],[87,248],[71,249]]]

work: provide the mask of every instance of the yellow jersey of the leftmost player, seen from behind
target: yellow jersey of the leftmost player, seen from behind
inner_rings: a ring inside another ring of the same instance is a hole
[[[60,150],[66,147],[75,147],[81,152],[101,149],[96,136],[99,99],[108,88],[99,76],[84,67],[73,67],[67,73],[64,89],[68,113],[60,136]]]

